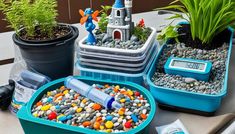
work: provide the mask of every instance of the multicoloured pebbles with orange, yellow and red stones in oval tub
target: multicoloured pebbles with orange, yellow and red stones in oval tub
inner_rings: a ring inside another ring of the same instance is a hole
[[[34,105],[32,114],[38,118],[107,133],[128,131],[148,117],[150,105],[140,92],[121,88],[119,85],[94,84],[93,87],[114,96],[122,108],[107,110],[74,90],[62,86],[47,92]]]

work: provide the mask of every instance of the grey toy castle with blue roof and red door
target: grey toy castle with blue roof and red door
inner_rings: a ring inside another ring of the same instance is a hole
[[[115,0],[107,26],[108,37],[127,41],[131,37],[133,28],[132,0],[125,0],[125,6],[123,0]]]

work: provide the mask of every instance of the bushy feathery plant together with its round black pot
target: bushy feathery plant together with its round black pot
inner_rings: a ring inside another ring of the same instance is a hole
[[[78,29],[57,23],[56,0],[0,1],[12,36],[29,69],[51,79],[73,74],[74,43]]]

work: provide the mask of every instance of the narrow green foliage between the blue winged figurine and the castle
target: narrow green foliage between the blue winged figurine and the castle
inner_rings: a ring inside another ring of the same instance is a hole
[[[111,6],[101,6],[102,10],[100,11],[101,16],[98,22],[99,30],[102,33],[105,33],[108,25],[108,11],[112,8]]]

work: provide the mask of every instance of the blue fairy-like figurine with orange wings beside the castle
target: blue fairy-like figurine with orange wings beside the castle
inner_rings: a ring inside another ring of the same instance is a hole
[[[83,25],[85,23],[85,28],[89,32],[87,37],[87,44],[89,45],[95,45],[96,44],[96,38],[92,31],[95,29],[95,24],[93,23],[93,20],[98,21],[97,16],[99,15],[99,11],[93,12],[91,8],[87,8],[85,12],[83,10],[79,10],[79,13],[81,14],[82,18],[80,20],[80,23]]]

